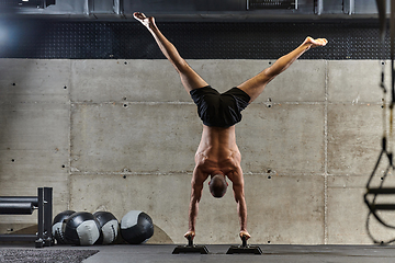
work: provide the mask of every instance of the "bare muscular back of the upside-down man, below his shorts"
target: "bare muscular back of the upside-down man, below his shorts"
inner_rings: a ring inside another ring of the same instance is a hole
[[[236,145],[235,126],[228,128],[203,126],[195,163],[204,175],[224,174],[234,181],[241,174],[241,155]]]

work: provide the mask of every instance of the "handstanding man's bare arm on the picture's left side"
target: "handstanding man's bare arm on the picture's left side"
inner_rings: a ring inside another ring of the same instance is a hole
[[[189,229],[184,237],[191,237],[192,239],[195,236],[195,222],[199,211],[199,202],[202,197],[203,192],[203,182],[207,179],[208,175],[202,173],[198,168],[193,170],[193,176],[191,181],[191,202],[189,207]]]

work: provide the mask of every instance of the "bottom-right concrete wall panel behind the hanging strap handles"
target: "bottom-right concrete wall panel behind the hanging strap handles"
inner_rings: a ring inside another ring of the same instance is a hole
[[[374,184],[377,185],[379,181],[376,179]],[[383,227],[372,215],[369,216],[363,202],[365,184],[366,176],[328,178],[328,243],[365,244],[373,242],[372,237],[379,242],[395,238],[395,230]],[[385,182],[386,187],[394,184],[392,179]],[[379,196],[376,202],[394,204],[395,199],[393,196]],[[379,214],[387,224],[395,225],[394,211]]]

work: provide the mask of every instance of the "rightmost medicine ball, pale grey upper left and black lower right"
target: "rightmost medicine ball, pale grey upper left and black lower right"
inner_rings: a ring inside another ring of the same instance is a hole
[[[121,220],[121,236],[131,244],[146,242],[153,235],[153,219],[144,211],[131,210]]]

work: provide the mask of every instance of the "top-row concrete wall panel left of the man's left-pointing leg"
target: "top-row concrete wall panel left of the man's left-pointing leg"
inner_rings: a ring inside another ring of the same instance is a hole
[[[72,60],[74,102],[191,101],[170,62],[161,60]]]

